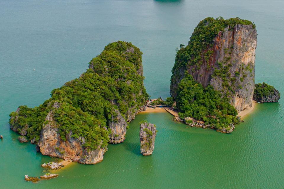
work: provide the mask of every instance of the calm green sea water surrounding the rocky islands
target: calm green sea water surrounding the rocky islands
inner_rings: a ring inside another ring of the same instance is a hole
[[[58,178],[45,174],[43,156],[9,129],[19,105],[38,106],[50,91],[84,72],[108,43],[131,41],[143,52],[145,87],[169,96],[175,48],[187,44],[205,17],[240,17],[256,24],[255,82],[284,94],[284,2],[189,0],[1,0],[0,188],[284,188],[284,101],[257,104],[231,134],[187,128],[168,113],[141,113],[126,140],[108,146],[96,165],[72,164]],[[157,125],[151,156],[139,152],[139,121]]]

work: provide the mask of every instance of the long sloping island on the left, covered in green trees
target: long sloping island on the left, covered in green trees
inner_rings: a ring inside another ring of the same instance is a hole
[[[10,128],[43,155],[83,164],[102,161],[107,143],[125,140],[127,122],[148,98],[141,55],[131,43],[110,43],[85,73],[54,89],[49,100],[12,112]]]

